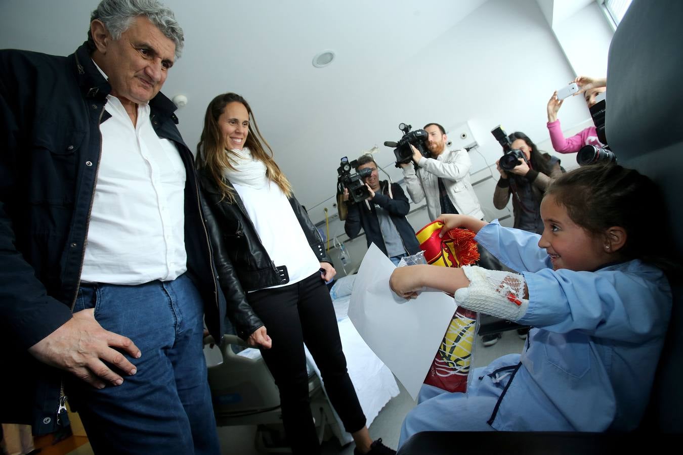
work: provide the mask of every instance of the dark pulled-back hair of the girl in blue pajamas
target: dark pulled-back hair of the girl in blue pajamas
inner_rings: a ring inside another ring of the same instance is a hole
[[[624,259],[640,259],[669,273],[678,271],[668,254],[664,198],[645,175],[617,164],[589,164],[557,177],[546,189],[548,194],[589,233],[624,228],[626,244],[619,250]]]

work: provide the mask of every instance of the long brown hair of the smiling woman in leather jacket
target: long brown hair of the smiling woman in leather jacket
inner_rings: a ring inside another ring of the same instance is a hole
[[[197,143],[197,158],[195,158],[197,168],[206,168],[219,190],[221,190],[223,199],[234,203],[234,190],[225,183],[223,178],[224,168],[235,169],[230,159],[230,156],[234,155],[234,153],[225,149],[225,138],[223,138],[221,129],[218,126],[218,118],[223,114],[225,106],[232,102],[241,103],[247,108],[249,113],[249,134],[247,134],[245,146],[249,147],[251,156],[266,165],[266,177],[270,181],[275,182],[285,196],[292,196],[292,186],[287,177],[280,171],[275,160],[273,160],[273,149],[270,148],[270,145],[261,135],[249,103],[237,93],[223,93],[214,98],[206,108],[204,130],[201,131],[201,137],[199,138],[199,143]],[[268,149],[267,152],[266,149]]]

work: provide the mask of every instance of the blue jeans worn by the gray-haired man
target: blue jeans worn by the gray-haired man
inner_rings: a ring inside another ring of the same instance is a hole
[[[204,304],[186,276],[138,286],[83,284],[74,312],[127,336],[141,357],[124,383],[98,390],[70,379],[66,393],[96,454],[219,454],[206,379]]]

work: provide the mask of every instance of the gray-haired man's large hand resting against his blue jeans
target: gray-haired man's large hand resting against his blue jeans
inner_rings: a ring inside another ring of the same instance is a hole
[[[98,389],[104,387],[103,381],[121,385],[124,379],[104,362],[135,375],[135,365],[113,348],[122,349],[136,359],[141,355],[140,350],[130,338],[104,330],[94,314],[92,308],[75,312],[70,321],[33,344],[29,353],[40,362],[66,370]]]

